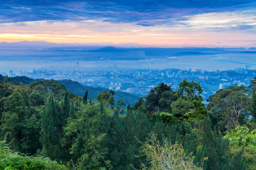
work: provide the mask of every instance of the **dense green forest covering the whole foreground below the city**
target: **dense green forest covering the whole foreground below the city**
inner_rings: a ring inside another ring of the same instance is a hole
[[[207,108],[195,81],[161,83],[134,106],[112,90],[94,102],[88,93],[0,81],[1,169],[256,168],[256,79],[219,90]]]

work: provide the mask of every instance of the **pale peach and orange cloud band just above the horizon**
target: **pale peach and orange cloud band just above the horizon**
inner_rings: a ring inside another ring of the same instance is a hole
[[[204,18],[205,20],[205,18]],[[195,17],[190,25],[202,24]],[[210,22],[212,24],[212,22]],[[246,46],[255,34],[243,31],[203,31],[188,26],[113,24],[102,20],[35,21],[0,24],[0,41],[49,41],[52,43],[138,43],[153,46],[221,45]]]

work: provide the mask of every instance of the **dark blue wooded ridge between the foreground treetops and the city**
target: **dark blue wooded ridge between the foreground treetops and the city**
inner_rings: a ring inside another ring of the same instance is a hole
[[[19,83],[23,83],[24,85],[43,80],[44,79],[28,78],[26,76],[15,76],[13,78],[10,78],[10,81],[17,81]],[[2,76],[1,74],[0,81],[4,81],[4,76]],[[83,97],[86,90],[88,90],[88,99],[92,99],[92,101],[97,101],[97,96],[99,96],[99,94],[101,94],[102,92],[109,91],[108,89],[102,87],[84,86],[81,83],[72,80],[58,80],[58,82],[64,85],[69,92],[72,92],[77,96]],[[133,94],[129,94],[127,92],[115,91],[114,99],[116,102],[118,100],[122,100],[125,104],[130,104],[133,106],[138,101],[139,97]]]

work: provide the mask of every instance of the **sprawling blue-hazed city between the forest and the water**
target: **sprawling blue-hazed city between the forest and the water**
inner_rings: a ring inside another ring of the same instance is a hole
[[[54,80],[68,79],[79,81],[83,85],[129,92],[138,96],[145,96],[150,89],[162,82],[171,85],[173,89],[177,89],[180,81],[187,79],[188,81],[200,82],[204,90],[203,97],[207,99],[216,90],[227,88],[234,84],[250,85],[250,81],[256,76],[256,70],[237,68],[227,71],[204,71],[202,69],[161,70],[118,67],[88,69],[86,67],[79,67],[77,63],[77,67],[73,68],[44,67],[33,69],[32,72],[19,71],[19,73],[14,73],[10,70],[8,73],[3,72],[1,74]]]

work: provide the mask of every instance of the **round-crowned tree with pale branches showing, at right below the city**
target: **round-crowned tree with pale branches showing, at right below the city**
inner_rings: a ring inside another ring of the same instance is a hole
[[[236,88],[237,89],[237,88]],[[212,125],[221,132],[236,129],[236,126],[246,124],[250,115],[251,99],[241,90],[221,89],[209,97],[207,106],[210,111]]]

